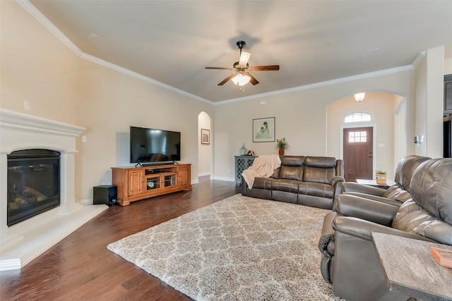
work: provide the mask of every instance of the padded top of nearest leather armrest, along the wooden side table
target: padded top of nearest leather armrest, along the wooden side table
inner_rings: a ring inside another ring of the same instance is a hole
[[[391,227],[386,227],[378,223],[371,221],[365,221],[364,219],[357,219],[350,216],[336,216],[333,219],[333,229],[340,233],[353,236],[355,238],[361,238],[363,240],[371,241],[371,232],[380,232],[392,235],[403,236],[405,238],[414,238],[417,240],[425,240],[429,242],[435,242],[424,236],[408,233],[405,231],[397,230]]]

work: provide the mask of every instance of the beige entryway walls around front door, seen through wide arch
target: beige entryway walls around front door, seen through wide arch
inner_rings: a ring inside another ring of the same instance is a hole
[[[358,118],[356,122],[345,121],[346,116],[362,112],[369,113],[370,120],[369,118],[365,120]],[[388,172],[388,179],[394,177],[398,161],[407,152],[405,98],[388,92],[366,92],[364,100],[357,102],[354,95],[351,94],[330,104],[327,107],[327,116],[327,152],[329,156],[344,159],[344,165],[347,166],[344,156],[344,147],[347,147],[344,141],[347,137],[344,137],[344,131],[349,129],[346,135],[350,135],[348,132],[356,135],[355,132],[358,128],[371,128],[372,146],[367,145],[366,152],[367,161],[371,161],[371,163],[367,162],[367,164],[371,164],[367,166],[371,169],[369,174],[371,174],[371,178],[374,178],[377,169],[384,169]]]

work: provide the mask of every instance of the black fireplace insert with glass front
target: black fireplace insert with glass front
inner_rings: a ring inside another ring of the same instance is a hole
[[[60,155],[49,149],[8,154],[8,226],[59,206]]]

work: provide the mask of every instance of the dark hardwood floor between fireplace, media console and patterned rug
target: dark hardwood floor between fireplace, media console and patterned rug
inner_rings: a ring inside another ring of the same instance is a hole
[[[199,179],[193,190],[112,206],[20,270],[0,272],[0,300],[191,300],[107,245],[240,192]]]

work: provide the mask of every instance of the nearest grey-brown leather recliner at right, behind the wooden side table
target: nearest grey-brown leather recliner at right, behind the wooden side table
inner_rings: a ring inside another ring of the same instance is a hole
[[[452,159],[420,164],[410,195],[400,206],[353,195],[338,198],[319,240],[321,274],[335,295],[350,301],[410,297],[388,290],[371,231],[452,245]]]

